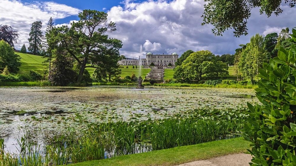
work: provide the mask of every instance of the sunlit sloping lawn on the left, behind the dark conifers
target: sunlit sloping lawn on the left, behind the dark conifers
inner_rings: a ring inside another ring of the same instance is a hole
[[[40,74],[43,74],[44,70],[47,70],[46,66],[48,64],[43,64],[46,59],[42,58],[42,56],[17,52],[16,54],[20,55],[20,62],[22,63],[20,66],[20,71],[18,72],[19,74],[29,74],[30,70],[34,70]]]

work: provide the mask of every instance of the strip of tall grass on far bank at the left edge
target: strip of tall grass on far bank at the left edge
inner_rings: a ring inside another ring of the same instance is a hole
[[[28,82],[0,82],[0,86],[7,87],[46,87],[51,86],[49,81],[28,81]]]

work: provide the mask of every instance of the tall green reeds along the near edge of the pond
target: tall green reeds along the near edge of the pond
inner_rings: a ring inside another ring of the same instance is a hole
[[[81,119],[80,119],[81,121]],[[244,120],[168,118],[156,121],[88,123],[87,129],[70,128],[47,142],[22,137],[19,154],[4,151],[0,139],[0,166],[65,165],[124,154],[228,139]],[[42,145],[42,146],[41,146]]]

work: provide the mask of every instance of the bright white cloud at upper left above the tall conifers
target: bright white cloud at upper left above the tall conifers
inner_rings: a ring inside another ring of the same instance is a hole
[[[13,7],[12,7],[13,6]],[[42,30],[45,31],[46,24],[50,17],[63,19],[69,16],[78,15],[80,9],[58,4],[55,2],[22,3],[16,0],[0,0],[0,22],[9,25],[19,33],[15,48],[20,49],[25,43],[29,46],[28,38],[32,22],[41,21]]]

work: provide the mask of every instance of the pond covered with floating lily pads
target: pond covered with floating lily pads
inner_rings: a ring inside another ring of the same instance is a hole
[[[75,113],[91,122],[140,121],[195,108],[241,108],[258,102],[254,95],[253,89],[231,88],[0,88],[0,138],[9,144],[24,128],[54,133],[67,126],[83,127],[73,120]]]

